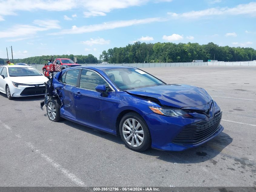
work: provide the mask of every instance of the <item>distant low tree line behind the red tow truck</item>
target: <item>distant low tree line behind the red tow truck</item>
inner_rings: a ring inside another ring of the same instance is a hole
[[[78,63],[98,63],[98,59],[97,57],[89,54],[89,55],[76,55],[75,57],[77,57],[77,62]],[[49,55],[45,55],[45,56],[35,56],[35,57],[28,57],[25,59],[13,59],[13,63],[27,63],[27,64],[31,64],[31,63],[36,63],[36,64],[44,64],[47,61],[44,61],[43,59],[51,59],[51,58],[68,58],[68,59],[72,59],[74,60],[74,55],[54,55],[49,56]],[[12,62],[12,59],[9,59]],[[6,64],[7,59],[1,59],[0,58],[0,64]]]

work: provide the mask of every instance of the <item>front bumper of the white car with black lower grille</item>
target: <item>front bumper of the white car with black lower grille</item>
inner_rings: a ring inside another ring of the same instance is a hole
[[[45,85],[40,83],[38,87],[34,85],[19,85],[18,87],[9,86],[13,97],[26,97],[45,95]]]

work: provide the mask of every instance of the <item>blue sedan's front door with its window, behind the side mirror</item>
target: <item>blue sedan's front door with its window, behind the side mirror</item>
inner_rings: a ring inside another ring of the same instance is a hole
[[[89,126],[115,131],[115,117],[111,113],[118,106],[115,91],[109,86],[108,96],[103,97],[102,93],[95,90],[97,85],[109,86],[97,72],[82,69],[77,88],[79,95],[75,99],[76,118]]]

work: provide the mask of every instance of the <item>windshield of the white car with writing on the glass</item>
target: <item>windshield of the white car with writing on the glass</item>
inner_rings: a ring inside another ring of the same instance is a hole
[[[34,67],[9,67],[9,76],[11,77],[20,77],[20,76],[41,76],[37,69]]]

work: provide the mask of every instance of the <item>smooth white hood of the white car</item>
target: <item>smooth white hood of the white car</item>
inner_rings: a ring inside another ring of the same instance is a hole
[[[23,84],[45,83],[49,79],[45,76],[22,76],[22,77],[9,77],[12,82]]]

